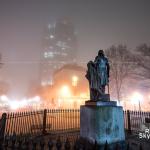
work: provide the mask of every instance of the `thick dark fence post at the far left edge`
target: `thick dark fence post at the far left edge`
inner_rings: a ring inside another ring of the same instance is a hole
[[[0,119],[0,141],[1,142],[3,142],[4,135],[5,135],[6,116],[7,114],[3,113]]]

